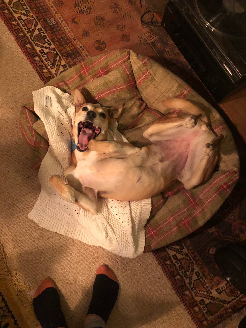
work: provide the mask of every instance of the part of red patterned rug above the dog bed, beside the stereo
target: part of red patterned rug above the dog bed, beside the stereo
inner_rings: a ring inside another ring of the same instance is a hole
[[[144,10],[138,0],[0,0],[1,18],[44,83],[102,51],[131,49],[195,86],[164,29],[141,25]]]

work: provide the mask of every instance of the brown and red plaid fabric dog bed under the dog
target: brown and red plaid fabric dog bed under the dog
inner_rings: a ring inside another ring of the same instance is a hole
[[[172,97],[193,101],[206,112],[215,133],[225,136],[218,164],[206,183],[188,191],[182,183],[175,182],[152,198],[152,211],[145,226],[145,252],[198,229],[217,211],[235,186],[239,176],[239,158],[224,120],[184,81],[154,60],[133,51],[111,51],[87,59],[46,85],[69,93],[78,87],[87,102],[98,102],[102,106],[124,102],[118,129],[137,147],[150,144],[143,137],[143,132],[157,118],[170,112],[160,102]],[[31,163],[38,169],[47,153],[49,140],[45,131],[40,132],[42,126],[37,129],[40,120],[33,110],[32,100],[23,106],[19,122],[29,146]]]

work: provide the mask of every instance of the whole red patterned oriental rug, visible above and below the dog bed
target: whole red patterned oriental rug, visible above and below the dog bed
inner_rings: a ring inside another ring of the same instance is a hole
[[[164,29],[141,24],[146,8],[140,1],[115,1],[0,0],[0,16],[44,83],[102,51],[131,49],[162,63],[214,105]],[[144,21],[151,18],[147,14]],[[246,304],[246,297],[224,281],[213,257],[228,243],[246,245],[246,146],[236,131],[234,137],[241,154],[241,178],[232,194],[205,226],[153,252],[199,328],[225,327]],[[12,318],[9,327],[18,327],[10,306],[1,306]]]

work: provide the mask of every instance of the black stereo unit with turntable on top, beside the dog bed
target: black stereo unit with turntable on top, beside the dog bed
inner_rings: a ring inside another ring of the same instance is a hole
[[[161,25],[219,103],[246,82],[246,4],[173,0]]]

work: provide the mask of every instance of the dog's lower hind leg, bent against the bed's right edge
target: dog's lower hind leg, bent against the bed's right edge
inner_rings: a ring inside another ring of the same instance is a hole
[[[217,162],[219,146],[223,137],[221,134],[212,139],[211,134],[208,134],[207,136],[199,135],[193,140],[183,176],[181,179],[178,178],[185,189],[192,189],[210,177]]]

